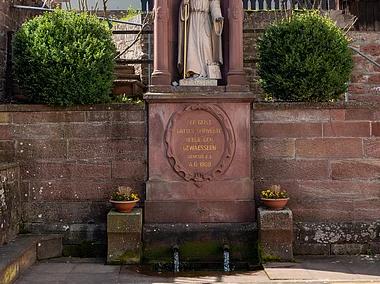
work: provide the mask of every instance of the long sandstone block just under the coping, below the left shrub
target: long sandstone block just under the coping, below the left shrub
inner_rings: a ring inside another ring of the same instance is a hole
[[[84,112],[14,112],[13,122],[20,124],[27,123],[59,123],[59,122],[84,122]]]

